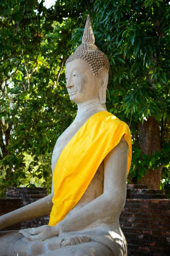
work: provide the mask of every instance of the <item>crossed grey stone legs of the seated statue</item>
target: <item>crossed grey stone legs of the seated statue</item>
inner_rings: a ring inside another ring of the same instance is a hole
[[[60,237],[29,242],[19,230],[0,232],[1,256],[119,256],[127,255],[126,241],[111,236],[108,230],[82,230],[62,234]],[[115,233],[116,234],[116,233]],[[61,247],[64,239],[87,236],[89,242]],[[113,253],[114,252],[114,253]]]

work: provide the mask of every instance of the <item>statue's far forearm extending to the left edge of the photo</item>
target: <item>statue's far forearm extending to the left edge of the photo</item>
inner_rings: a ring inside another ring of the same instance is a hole
[[[0,230],[32,218],[49,215],[53,206],[52,198],[53,194],[48,195],[34,203],[0,216]]]

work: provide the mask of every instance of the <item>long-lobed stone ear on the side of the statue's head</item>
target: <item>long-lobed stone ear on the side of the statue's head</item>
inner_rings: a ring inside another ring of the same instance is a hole
[[[98,70],[98,76],[101,79],[99,84],[99,99],[102,104],[106,103],[106,90],[108,85],[109,73],[105,67],[101,67]]]

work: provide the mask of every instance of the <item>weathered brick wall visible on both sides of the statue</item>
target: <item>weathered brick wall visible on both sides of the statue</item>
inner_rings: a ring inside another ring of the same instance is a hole
[[[45,195],[44,188],[8,188],[6,199],[0,199],[0,215]],[[48,221],[49,216],[45,216],[10,229],[39,227],[48,224]],[[127,200],[119,221],[127,240],[129,256],[170,255],[170,200],[163,191],[148,189],[144,185],[127,185]]]

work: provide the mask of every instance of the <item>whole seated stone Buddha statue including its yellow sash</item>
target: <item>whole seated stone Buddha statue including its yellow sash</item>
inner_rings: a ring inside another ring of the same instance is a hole
[[[119,226],[130,167],[130,131],[105,106],[109,61],[88,16],[82,44],[66,61],[77,116],[58,138],[51,195],[0,217],[0,230],[45,215],[37,228],[0,232],[0,256],[126,256]]]

